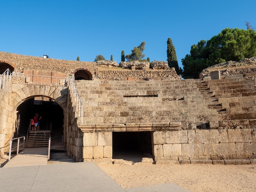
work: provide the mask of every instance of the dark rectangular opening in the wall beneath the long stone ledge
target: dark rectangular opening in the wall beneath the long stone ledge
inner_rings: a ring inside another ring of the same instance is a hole
[[[153,157],[152,132],[113,132],[113,159],[140,162],[143,157]]]

